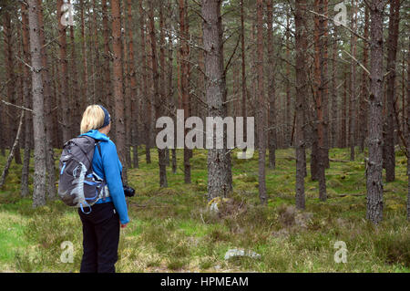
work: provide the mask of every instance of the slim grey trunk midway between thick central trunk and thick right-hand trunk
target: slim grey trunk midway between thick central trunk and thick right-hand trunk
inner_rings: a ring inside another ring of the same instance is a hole
[[[295,147],[296,147],[296,207],[305,208],[304,198],[304,162],[305,162],[305,140],[303,132],[304,114],[303,103],[306,93],[306,56],[307,49],[306,26],[305,26],[305,0],[296,0],[294,22],[295,22],[295,49],[296,49],[296,126],[295,126]]]

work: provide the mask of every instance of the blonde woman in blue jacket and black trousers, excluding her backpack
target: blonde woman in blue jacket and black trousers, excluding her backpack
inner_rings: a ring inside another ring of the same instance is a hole
[[[111,121],[108,110],[100,105],[87,107],[81,120],[81,135],[99,142],[92,162],[93,171],[108,185],[108,197],[92,206],[91,213],[78,209],[83,223],[81,273],[114,273],[118,260],[119,226],[127,226],[128,210],[121,180],[122,165],[116,145],[109,140]],[[101,152],[99,152],[99,149]]]

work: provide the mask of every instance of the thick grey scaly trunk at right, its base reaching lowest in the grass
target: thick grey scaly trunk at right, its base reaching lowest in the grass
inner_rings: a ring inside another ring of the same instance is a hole
[[[377,224],[383,217],[383,10],[384,1],[370,4],[370,96],[369,96],[369,157],[366,169],[366,218]]]

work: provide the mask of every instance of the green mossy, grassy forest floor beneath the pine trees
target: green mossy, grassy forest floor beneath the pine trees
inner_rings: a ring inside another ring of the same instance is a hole
[[[178,172],[168,168],[169,188],[159,189],[157,151],[147,164],[141,149],[140,168],[128,171],[137,194],[128,199],[131,222],[121,230],[117,272],[410,272],[406,158],[396,154],[396,180],[384,184],[384,220],[374,227],[365,220],[364,153],[348,161],[347,150],[330,151],[326,202],[318,199],[318,182],[311,181],[308,155],[304,212],[293,207],[294,151],[277,151],[276,169],[266,172],[267,206],[259,203],[257,153],[251,160],[234,155],[231,199],[213,213],[206,197],[206,151],[194,151],[191,184],[184,183],[178,151]],[[0,170],[4,165],[0,156]],[[60,201],[33,209],[30,197],[20,197],[20,173],[21,165],[13,163],[0,192],[0,271],[78,272],[77,210]],[[64,241],[74,245],[72,264],[60,260]],[[335,262],[338,241],[346,245],[346,263]],[[260,256],[225,260],[230,249]]]

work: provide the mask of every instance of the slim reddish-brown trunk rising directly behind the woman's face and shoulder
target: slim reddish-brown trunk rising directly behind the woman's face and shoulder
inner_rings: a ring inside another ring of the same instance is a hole
[[[121,15],[119,0],[111,0],[112,16],[112,39],[113,39],[113,93],[114,99],[114,122],[116,123],[116,142],[119,160],[123,164],[122,178],[123,182],[128,182],[127,176],[127,149],[125,140],[125,116],[124,116],[124,95],[123,95],[123,69],[121,54]]]

